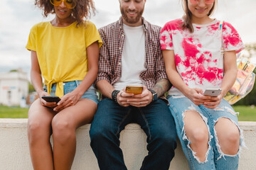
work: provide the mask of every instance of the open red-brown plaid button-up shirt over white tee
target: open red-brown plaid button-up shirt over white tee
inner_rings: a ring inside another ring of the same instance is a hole
[[[139,77],[147,89],[152,89],[160,79],[167,79],[164,59],[161,53],[159,34],[161,27],[154,26],[142,18],[145,33],[146,70]],[[99,71],[97,81],[105,79],[110,84],[117,82],[122,75],[122,51],[124,30],[122,18],[115,23],[100,28],[103,45],[100,47]]]

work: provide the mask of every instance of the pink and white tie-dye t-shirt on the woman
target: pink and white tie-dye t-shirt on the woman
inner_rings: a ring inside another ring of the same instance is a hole
[[[194,32],[182,30],[182,19],[166,23],[160,33],[162,50],[174,50],[178,74],[190,88],[220,88],[223,79],[223,55],[225,51],[240,52],[244,45],[238,32],[223,23],[220,35],[220,21],[214,20],[206,25],[193,24]],[[174,86],[169,95],[182,95]]]

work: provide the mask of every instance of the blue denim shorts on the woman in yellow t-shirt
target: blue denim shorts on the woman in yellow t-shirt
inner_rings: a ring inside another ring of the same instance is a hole
[[[72,92],[73,90],[75,90],[75,88],[81,84],[82,81],[64,81],[63,82],[63,94],[68,94],[70,92]],[[55,91],[56,91],[56,86],[57,84],[53,84],[51,86],[51,91],[50,91],[50,96],[55,96]],[[43,91],[47,92],[47,86],[43,86]],[[92,86],[90,86],[89,89],[87,89],[87,91],[85,91],[85,94],[82,95],[81,98],[87,98],[90,99],[92,101],[94,101],[95,103],[99,102],[99,99],[97,98],[96,92],[95,92],[95,88]]]

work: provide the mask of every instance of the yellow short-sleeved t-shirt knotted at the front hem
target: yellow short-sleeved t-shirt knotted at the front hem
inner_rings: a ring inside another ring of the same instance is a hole
[[[31,28],[28,50],[36,51],[41,74],[50,94],[57,83],[55,96],[63,96],[63,81],[82,80],[88,72],[86,47],[93,42],[102,45],[100,33],[93,23],[78,26],[55,27],[50,22],[38,23]]]

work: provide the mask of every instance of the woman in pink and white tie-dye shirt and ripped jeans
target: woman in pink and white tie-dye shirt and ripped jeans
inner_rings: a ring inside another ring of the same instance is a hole
[[[238,169],[242,131],[223,99],[233,86],[244,45],[230,23],[210,18],[216,0],[183,0],[186,13],[161,30],[171,113],[190,169]],[[221,25],[221,26],[220,26]],[[220,29],[223,28],[223,29]],[[221,47],[224,48],[224,55]],[[205,96],[206,89],[222,89]]]

